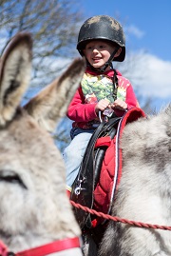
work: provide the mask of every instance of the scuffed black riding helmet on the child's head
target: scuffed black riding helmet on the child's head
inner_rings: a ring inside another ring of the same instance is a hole
[[[85,21],[78,36],[77,49],[84,56],[85,45],[88,41],[101,39],[107,40],[121,47],[122,52],[114,61],[123,62],[125,57],[125,39],[123,28],[118,21],[106,15],[93,16]]]

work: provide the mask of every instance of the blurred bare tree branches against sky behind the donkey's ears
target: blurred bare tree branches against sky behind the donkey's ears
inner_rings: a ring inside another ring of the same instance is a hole
[[[33,37],[33,71],[31,85],[47,85],[75,54],[81,20],[75,0],[0,0],[0,38],[5,47],[18,31]],[[61,62],[61,58],[66,58]],[[67,61],[67,62],[66,62]]]

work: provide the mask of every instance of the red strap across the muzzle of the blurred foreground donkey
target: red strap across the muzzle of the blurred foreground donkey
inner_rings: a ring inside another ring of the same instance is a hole
[[[45,246],[38,246],[31,249],[23,250],[17,252],[16,256],[46,256],[47,254],[75,248],[81,247],[80,239],[78,237],[68,238],[65,240],[58,240],[47,244]],[[4,255],[3,255],[4,256]]]

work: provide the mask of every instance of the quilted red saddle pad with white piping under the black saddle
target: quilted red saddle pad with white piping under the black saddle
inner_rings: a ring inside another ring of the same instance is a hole
[[[97,211],[102,211],[105,214],[110,213],[114,194],[122,177],[122,149],[120,148],[120,139],[123,134],[123,128],[126,124],[134,122],[141,117],[145,117],[141,108],[129,109],[119,123],[117,135],[105,151],[100,179],[93,193],[93,208]],[[101,140],[102,139],[103,138],[101,138]],[[96,145],[98,145],[98,141]],[[96,225],[102,221],[104,220],[98,218]]]

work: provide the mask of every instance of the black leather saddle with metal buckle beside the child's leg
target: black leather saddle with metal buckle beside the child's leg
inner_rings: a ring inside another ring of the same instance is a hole
[[[92,137],[85,150],[79,173],[72,186],[70,199],[82,206],[93,207],[93,191],[99,181],[100,172],[104,160],[106,146],[95,148],[97,139],[105,136],[114,138],[121,117],[114,117],[103,122],[92,134]],[[82,209],[74,208],[75,217],[81,228],[91,227],[90,213]]]

